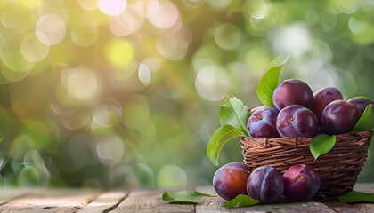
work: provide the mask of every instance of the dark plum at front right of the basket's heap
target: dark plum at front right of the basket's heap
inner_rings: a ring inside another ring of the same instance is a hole
[[[334,100],[323,109],[321,125],[329,135],[343,134],[353,130],[360,117],[360,110],[354,104]]]

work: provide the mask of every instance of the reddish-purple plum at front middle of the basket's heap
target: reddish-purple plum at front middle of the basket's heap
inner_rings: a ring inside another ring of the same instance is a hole
[[[291,105],[280,110],[277,130],[281,137],[312,138],[318,132],[318,120],[312,110],[304,106]]]

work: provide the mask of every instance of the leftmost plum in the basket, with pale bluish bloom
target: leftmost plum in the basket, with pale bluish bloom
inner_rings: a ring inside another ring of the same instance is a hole
[[[278,138],[275,123],[279,110],[276,108],[263,106],[258,108],[248,119],[247,130],[252,138]]]

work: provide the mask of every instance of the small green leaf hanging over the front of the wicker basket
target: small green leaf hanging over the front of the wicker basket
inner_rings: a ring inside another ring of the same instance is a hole
[[[329,136],[326,134],[321,134],[313,138],[310,145],[311,153],[315,160],[322,154],[327,154],[334,147],[337,138],[335,135]]]

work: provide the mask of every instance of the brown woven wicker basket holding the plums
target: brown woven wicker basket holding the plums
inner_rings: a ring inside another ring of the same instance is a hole
[[[251,168],[269,165],[284,173],[290,166],[304,163],[321,178],[318,194],[333,197],[352,190],[366,161],[371,130],[337,135],[328,154],[314,161],[309,144],[312,138],[240,138],[244,162]]]

